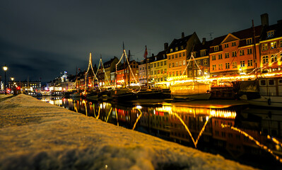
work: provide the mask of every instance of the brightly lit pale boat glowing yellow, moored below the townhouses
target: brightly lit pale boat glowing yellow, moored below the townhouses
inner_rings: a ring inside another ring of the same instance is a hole
[[[211,97],[211,84],[199,82],[183,82],[170,87],[174,99],[208,100]]]

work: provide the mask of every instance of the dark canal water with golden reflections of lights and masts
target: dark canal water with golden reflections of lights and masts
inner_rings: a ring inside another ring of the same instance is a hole
[[[107,123],[144,132],[259,169],[282,169],[282,111],[247,105],[40,98]],[[226,101],[225,101],[226,102]]]

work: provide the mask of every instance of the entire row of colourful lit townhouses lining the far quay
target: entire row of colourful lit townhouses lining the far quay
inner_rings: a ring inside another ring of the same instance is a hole
[[[258,76],[280,75],[282,58],[282,21],[269,25],[267,13],[262,24],[228,33],[213,40],[199,40],[196,33],[164,43],[163,51],[141,62],[117,57],[94,67],[98,72],[96,84],[114,86],[131,83],[164,84],[177,80],[254,79]],[[130,52],[129,52],[130,59]],[[130,69],[129,69],[130,67]],[[76,77],[77,78],[77,77]],[[94,77],[85,72],[76,79],[76,86],[93,87]],[[86,83],[84,83],[86,81]]]

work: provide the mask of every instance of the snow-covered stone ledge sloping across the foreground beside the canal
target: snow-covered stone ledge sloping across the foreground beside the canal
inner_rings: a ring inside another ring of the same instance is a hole
[[[0,102],[0,169],[253,169],[20,94]]]

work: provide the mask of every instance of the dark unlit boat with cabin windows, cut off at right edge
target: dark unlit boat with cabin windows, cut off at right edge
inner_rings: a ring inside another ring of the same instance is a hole
[[[250,105],[282,108],[282,78],[260,78],[241,86],[242,101]]]

